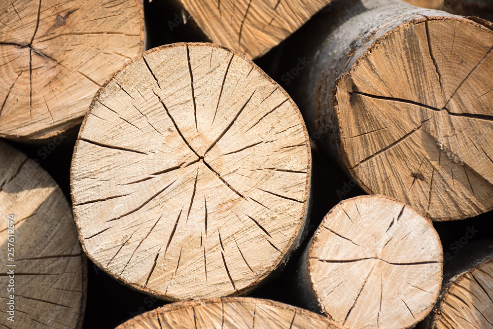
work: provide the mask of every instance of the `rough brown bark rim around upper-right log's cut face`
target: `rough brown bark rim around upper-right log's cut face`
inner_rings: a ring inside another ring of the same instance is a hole
[[[433,11],[433,10],[430,10],[430,11]],[[434,10],[436,11],[436,10]],[[340,122],[341,122],[341,113],[339,111],[339,108],[338,108],[338,103],[337,103],[337,99],[336,99],[336,92],[337,92],[337,88],[342,85],[344,82],[346,82],[348,79],[351,78],[352,76],[352,73],[353,71],[359,66],[360,62],[364,61],[366,59],[366,57],[372,52],[372,50],[379,44],[381,43],[382,41],[384,41],[386,38],[390,37],[393,33],[396,33],[398,32],[401,28],[403,27],[406,27],[408,25],[411,25],[411,24],[416,24],[416,23],[421,23],[421,22],[425,22],[425,21],[443,21],[443,20],[451,20],[451,21],[460,21],[460,22],[463,22],[465,24],[471,24],[473,25],[474,27],[477,27],[479,29],[482,29],[484,31],[486,31],[487,33],[490,33],[490,34],[493,34],[492,32],[492,29],[489,27],[489,25],[487,24],[480,24],[476,21],[473,21],[471,19],[467,19],[465,17],[462,17],[462,16],[455,16],[455,15],[451,15],[451,14],[447,14],[447,13],[444,13],[446,14],[447,16],[443,16],[443,17],[440,17],[440,16],[423,16],[423,19],[414,19],[414,20],[411,20],[405,24],[402,24],[400,25],[398,28],[396,29],[393,29],[393,30],[390,30],[388,31],[387,33],[385,33],[384,35],[378,37],[367,49],[366,51],[364,52],[364,54],[362,56],[360,56],[352,65],[352,68],[346,72],[346,73],[343,73],[341,74],[335,81],[334,83],[334,88],[332,89],[332,105],[331,105],[331,109],[329,109],[329,112],[332,111],[334,113],[334,117],[336,118],[336,123],[335,125],[337,126],[337,131],[339,132],[339,136],[337,138],[337,141],[336,141],[336,146],[337,146],[337,151],[338,151],[338,155],[339,155],[339,159],[340,161],[343,163],[343,169],[350,174],[350,176],[356,181],[356,183],[358,183],[358,185],[367,193],[369,194],[373,194],[373,191],[371,191],[368,186],[366,186],[356,175],[355,175],[355,172],[354,170],[352,170],[351,168],[351,165],[349,163],[349,154],[347,152],[347,148],[346,148],[346,144],[345,144],[345,141],[346,141],[346,137],[345,137],[345,133],[344,133],[344,127],[341,126]],[[487,22],[487,21],[486,21]],[[489,23],[489,22],[488,22]],[[490,23],[492,24],[492,23]],[[414,209],[413,209],[414,210]],[[488,211],[491,211],[493,210],[493,206],[488,209],[486,212]],[[415,210],[416,211],[416,210]],[[416,211],[418,212],[418,211]],[[419,212],[418,212],[419,213]],[[420,214],[421,216],[427,218],[426,216],[424,216],[423,214]],[[466,219],[466,217],[440,217],[440,218],[429,218],[431,219],[432,221],[447,221],[447,220],[459,220],[459,219]]]

